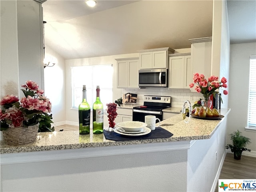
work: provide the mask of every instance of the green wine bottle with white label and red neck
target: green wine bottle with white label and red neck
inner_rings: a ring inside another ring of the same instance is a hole
[[[96,101],[92,106],[92,132],[94,134],[103,133],[103,104],[100,102],[100,86],[96,88]]]

